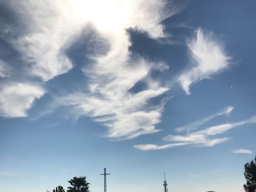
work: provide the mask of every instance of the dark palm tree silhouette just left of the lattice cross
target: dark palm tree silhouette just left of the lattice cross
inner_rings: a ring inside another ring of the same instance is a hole
[[[86,181],[86,176],[74,177],[68,181],[72,187],[68,187],[67,192],[87,192],[89,184]]]

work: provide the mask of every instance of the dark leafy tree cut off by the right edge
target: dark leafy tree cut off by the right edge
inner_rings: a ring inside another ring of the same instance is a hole
[[[244,164],[244,178],[246,179],[244,190],[256,183],[256,156],[253,160]]]

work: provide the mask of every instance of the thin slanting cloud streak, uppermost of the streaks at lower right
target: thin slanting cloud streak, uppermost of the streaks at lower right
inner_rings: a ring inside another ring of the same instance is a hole
[[[213,119],[214,117],[216,117],[216,116],[220,116],[220,115],[227,115],[227,116],[228,116],[228,115],[232,112],[233,109],[234,109],[234,107],[232,107],[232,106],[227,106],[227,107],[225,107],[223,110],[221,110],[220,112],[217,112],[216,114],[213,114],[213,115],[211,115],[211,116],[208,116],[208,117],[202,118],[202,119],[200,119],[200,120],[197,120],[197,121],[195,121],[195,122],[189,123],[189,124],[187,124],[186,126],[177,127],[177,128],[175,128],[174,130],[175,130],[176,132],[184,132],[184,131],[188,132],[188,131],[190,131],[190,130],[195,130],[195,129],[197,129],[199,126],[201,126],[201,125],[205,124],[206,122],[212,120],[212,119]]]

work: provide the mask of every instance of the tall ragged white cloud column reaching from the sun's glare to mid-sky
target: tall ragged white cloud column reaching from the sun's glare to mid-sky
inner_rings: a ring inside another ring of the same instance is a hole
[[[163,104],[149,106],[148,102],[170,88],[152,80],[150,71],[162,71],[168,66],[139,57],[132,58],[129,51],[130,37],[126,30],[136,28],[147,32],[151,38],[163,37],[165,34],[161,21],[177,10],[166,12],[165,0],[76,3],[77,14],[95,26],[106,40],[102,46],[106,46],[108,52],[104,55],[90,55],[92,64],[82,68],[89,80],[89,92],[84,89],[58,96],[56,104],[73,106],[77,116],[90,116],[107,126],[107,136],[110,138],[129,139],[158,132],[155,125],[160,122]],[[140,81],[145,82],[147,87],[140,92],[130,92]]]

